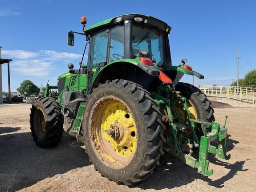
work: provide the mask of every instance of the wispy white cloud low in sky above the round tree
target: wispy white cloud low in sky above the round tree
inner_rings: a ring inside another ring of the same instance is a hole
[[[11,69],[26,76],[45,77],[51,66],[57,61],[70,62],[80,59],[81,55],[68,52],[41,50],[28,52],[24,50],[3,50],[2,55],[13,59]]]

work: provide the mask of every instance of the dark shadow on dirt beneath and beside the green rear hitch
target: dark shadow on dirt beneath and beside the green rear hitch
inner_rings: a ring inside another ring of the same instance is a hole
[[[228,151],[231,151],[237,143],[239,142],[229,139],[227,141]],[[196,169],[189,167],[178,158],[167,153],[160,159],[160,165],[156,168],[155,172],[152,175],[150,175],[143,182],[130,186],[130,188],[153,188],[155,190],[160,190],[164,188],[171,189],[189,184],[196,179],[206,181],[209,185],[215,188],[223,188],[224,183],[232,179],[233,176],[237,174],[237,172],[248,170],[243,169],[243,166],[244,163],[249,159],[237,161],[234,164],[230,164],[224,162],[225,160],[218,160],[215,157],[209,155],[209,160],[212,164],[216,164],[218,166],[221,166],[222,168],[229,169],[229,172],[218,180],[211,180],[209,177],[197,173]]]

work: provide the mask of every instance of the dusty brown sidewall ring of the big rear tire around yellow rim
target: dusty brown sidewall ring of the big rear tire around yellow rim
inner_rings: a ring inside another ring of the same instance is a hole
[[[91,145],[91,141],[89,138],[89,112],[92,111],[94,103],[101,98],[102,96],[114,96],[118,99],[122,100],[126,106],[130,109],[130,112],[134,118],[134,122],[137,128],[137,147],[136,152],[134,154],[133,159],[123,168],[110,168],[102,163],[102,161],[98,158],[96,153],[93,150]],[[93,162],[94,167],[101,172],[103,176],[110,178],[110,180],[114,181],[126,181],[127,178],[132,179],[134,176],[134,172],[139,172],[141,165],[144,163],[144,156],[147,151],[146,141],[148,140],[146,136],[146,126],[147,124],[144,122],[143,113],[138,108],[137,101],[134,101],[131,97],[130,92],[125,92],[123,88],[117,88],[112,85],[105,85],[105,87],[98,88],[93,94],[90,96],[86,106],[85,106],[85,115],[83,119],[83,132],[85,138],[85,148],[90,157],[90,160]]]

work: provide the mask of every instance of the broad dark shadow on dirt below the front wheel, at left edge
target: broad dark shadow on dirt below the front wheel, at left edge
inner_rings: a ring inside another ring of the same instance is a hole
[[[7,129],[4,132],[8,132]],[[69,146],[67,136],[57,147],[42,149],[33,142],[30,132],[13,133],[0,136],[0,146],[1,192],[17,191],[47,177],[91,164],[83,148]]]

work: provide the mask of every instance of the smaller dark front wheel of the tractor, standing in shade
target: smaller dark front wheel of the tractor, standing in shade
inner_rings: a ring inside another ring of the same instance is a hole
[[[55,147],[61,141],[63,116],[52,97],[41,97],[32,104],[30,129],[33,140],[41,148]]]

